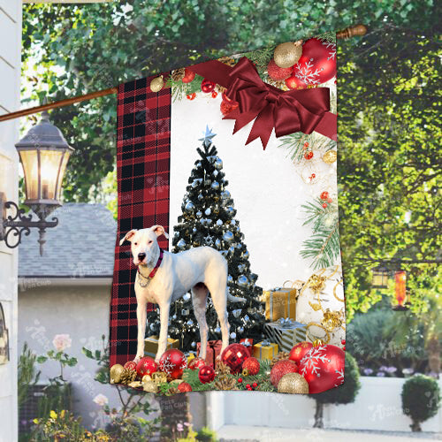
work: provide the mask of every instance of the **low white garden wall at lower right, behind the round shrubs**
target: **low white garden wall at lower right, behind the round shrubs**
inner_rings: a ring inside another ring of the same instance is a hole
[[[404,378],[361,377],[356,400],[347,405],[327,405],[324,427],[348,430],[410,431],[403,415],[400,392]],[[442,380],[439,380],[442,388]],[[223,425],[259,425],[306,428],[314,423],[315,400],[298,394],[265,392],[211,392],[208,400],[211,428]],[[442,431],[442,409],[422,424],[423,431]]]

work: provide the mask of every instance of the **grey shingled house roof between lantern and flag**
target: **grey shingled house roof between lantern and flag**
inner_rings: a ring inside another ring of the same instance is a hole
[[[46,230],[40,256],[38,229],[19,245],[19,278],[103,278],[113,273],[117,222],[103,204],[66,203],[47,218],[58,218]]]

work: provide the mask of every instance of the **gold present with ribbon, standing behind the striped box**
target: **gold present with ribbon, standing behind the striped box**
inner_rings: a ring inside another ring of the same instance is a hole
[[[296,319],[296,299],[299,289],[299,281],[286,281],[282,287],[263,292],[265,301],[265,318],[269,321],[277,321],[280,317]],[[290,283],[290,286],[287,286]]]

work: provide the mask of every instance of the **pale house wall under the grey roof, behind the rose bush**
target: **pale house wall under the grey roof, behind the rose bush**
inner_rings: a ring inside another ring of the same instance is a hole
[[[96,394],[102,393],[110,399],[110,405],[118,405],[116,389],[94,380],[98,366],[81,352],[81,347],[102,349],[102,335],[109,336],[109,309],[110,283],[69,287],[40,278],[34,279],[34,287],[31,279],[20,284],[19,349],[26,341],[35,354],[46,354],[54,349],[52,340],[56,334],[71,336],[72,347],[66,353],[75,356],[78,364],[66,368],[64,377],[72,382],[73,410],[88,427],[103,423],[101,408],[93,402]],[[39,369],[42,381],[59,374],[55,362],[45,362]]]

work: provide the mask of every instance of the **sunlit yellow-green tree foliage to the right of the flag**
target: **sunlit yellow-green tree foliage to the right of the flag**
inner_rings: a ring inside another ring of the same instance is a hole
[[[415,313],[438,293],[440,64],[436,38],[426,34],[385,25],[339,46],[339,224],[350,319],[380,300],[370,268],[382,259],[407,271]]]

